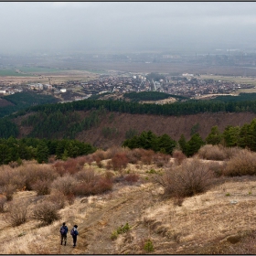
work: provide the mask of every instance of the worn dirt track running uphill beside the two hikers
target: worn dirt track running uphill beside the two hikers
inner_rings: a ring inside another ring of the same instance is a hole
[[[93,202],[93,207],[87,208],[85,219],[79,224],[77,247],[72,248],[72,240],[68,235],[68,245],[56,247],[56,240],[59,243],[59,237],[55,236],[55,245],[52,242],[51,253],[56,254],[116,254],[122,250],[123,238],[129,237],[136,229],[137,236],[147,233],[147,228],[142,225],[144,208],[148,208],[150,202],[153,202],[152,185],[115,188],[111,194]],[[105,203],[107,200],[107,204]],[[82,204],[82,203],[81,203]],[[69,222],[72,220],[69,219]],[[117,240],[111,240],[112,231],[126,223],[132,227],[129,234],[121,235]],[[139,238],[136,237],[138,240]],[[125,241],[124,241],[125,242]],[[125,248],[123,248],[125,250]]]

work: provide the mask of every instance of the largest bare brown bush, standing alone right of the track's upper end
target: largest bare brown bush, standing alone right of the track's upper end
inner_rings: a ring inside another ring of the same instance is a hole
[[[192,197],[203,193],[213,184],[213,172],[198,159],[187,159],[182,165],[172,165],[156,181],[165,188],[165,195],[171,197]]]

